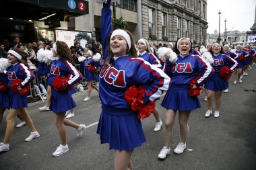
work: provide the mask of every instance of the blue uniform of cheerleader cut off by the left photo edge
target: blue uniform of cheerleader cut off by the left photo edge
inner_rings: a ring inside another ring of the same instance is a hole
[[[8,79],[5,73],[0,73],[0,82],[7,85]],[[9,91],[0,91],[0,108],[9,108]]]

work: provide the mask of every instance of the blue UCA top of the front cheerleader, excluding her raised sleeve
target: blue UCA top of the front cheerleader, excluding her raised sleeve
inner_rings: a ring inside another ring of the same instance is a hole
[[[131,108],[125,101],[125,91],[133,85],[146,85],[143,99],[146,102],[159,99],[162,91],[167,91],[170,85],[170,78],[161,69],[131,56],[120,56],[113,66],[104,65],[99,77],[100,100],[114,108]]]

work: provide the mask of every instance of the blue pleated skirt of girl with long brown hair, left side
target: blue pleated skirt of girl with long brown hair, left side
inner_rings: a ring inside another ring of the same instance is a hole
[[[60,112],[71,110],[75,107],[75,101],[73,100],[69,91],[56,91],[52,87],[50,110],[52,110],[55,114],[58,114]]]

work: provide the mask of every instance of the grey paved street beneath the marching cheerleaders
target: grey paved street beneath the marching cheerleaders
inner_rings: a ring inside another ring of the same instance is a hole
[[[201,108],[192,112],[189,119],[188,149],[182,155],[171,153],[164,161],[158,160],[163,146],[162,130],[154,132],[154,116],[143,122],[147,142],[133,153],[134,169],[256,169],[256,67],[249,71],[243,83],[236,85],[230,80],[228,93],[222,95],[220,118],[205,118],[204,94],[199,97]],[[59,146],[59,134],[52,112],[40,112],[42,101],[30,103],[28,112],[40,138],[30,142],[24,139],[30,134],[28,127],[15,128],[10,150],[0,154],[0,169],[113,169],[113,151],[108,144],[100,144],[96,134],[100,117],[100,101],[92,91],[90,101],[82,101],[86,92],[73,95],[77,103],[75,117],[71,120],[88,126],[82,138],[67,127],[69,151],[60,157],[52,154]],[[160,106],[163,97],[157,102]],[[5,133],[5,118],[0,125],[0,140]],[[160,115],[163,120],[163,115]],[[178,116],[177,116],[178,117]],[[179,143],[179,126],[174,124],[172,150]],[[15,124],[20,123],[16,119]],[[90,125],[90,126],[89,126]]]

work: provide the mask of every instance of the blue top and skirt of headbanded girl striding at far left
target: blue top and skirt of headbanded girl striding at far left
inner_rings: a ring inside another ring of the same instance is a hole
[[[23,88],[25,85],[30,83],[34,79],[34,74],[24,65],[23,63],[15,63],[7,69],[8,77],[8,90],[9,90],[9,108],[19,109],[28,108],[27,94],[19,95],[11,91],[11,82],[15,79],[22,79],[20,87]]]

